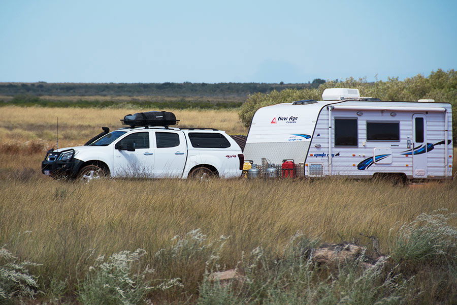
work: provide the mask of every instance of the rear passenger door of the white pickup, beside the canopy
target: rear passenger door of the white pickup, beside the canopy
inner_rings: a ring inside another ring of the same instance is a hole
[[[181,131],[154,131],[154,177],[181,177],[187,158],[187,144]]]

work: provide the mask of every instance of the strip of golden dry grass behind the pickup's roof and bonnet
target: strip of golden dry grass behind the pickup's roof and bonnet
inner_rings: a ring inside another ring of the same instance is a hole
[[[122,127],[120,119],[134,112],[151,109],[81,109],[2,107],[0,111],[0,142],[43,140],[55,142],[56,120],[59,117],[61,145],[80,145],[101,132],[101,126]],[[167,109],[160,109],[167,110]],[[246,134],[247,130],[235,110],[171,110],[181,120],[179,127],[212,127],[228,134]]]

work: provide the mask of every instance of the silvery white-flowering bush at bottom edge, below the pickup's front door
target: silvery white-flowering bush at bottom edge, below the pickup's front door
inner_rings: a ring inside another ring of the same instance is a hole
[[[152,289],[166,290],[181,285],[179,279],[162,281],[151,286],[149,266],[140,268],[146,251],[121,251],[105,259],[99,256],[89,267],[85,281],[79,289],[79,300],[84,305],[134,305],[143,303]]]

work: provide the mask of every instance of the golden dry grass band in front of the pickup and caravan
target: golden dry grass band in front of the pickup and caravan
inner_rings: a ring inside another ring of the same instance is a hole
[[[160,278],[181,278],[182,291],[195,294],[204,261],[160,266],[153,256],[170,246],[175,235],[201,228],[212,238],[230,236],[221,253],[226,267],[234,267],[242,252],[259,245],[279,255],[297,231],[323,241],[352,240],[368,247],[371,241],[360,233],[376,235],[386,253],[390,228],[397,229],[421,212],[455,211],[456,195],[453,181],[409,188],[336,179],[203,184],[110,179],[81,184],[16,176],[2,181],[0,243],[7,243],[22,259],[43,263],[38,268],[42,279],[67,281],[70,290],[82,277],[81,268],[90,265],[81,263],[90,249],[111,254],[142,248]],[[179,294],[161,297],[176,300]]]

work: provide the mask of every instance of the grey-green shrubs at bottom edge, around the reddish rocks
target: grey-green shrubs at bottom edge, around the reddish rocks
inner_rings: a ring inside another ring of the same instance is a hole
[[[309,259],[316,241],[295,236],[280,256],[260,247],[244,256],[241,280],[219,283],[205,278],[198,304],[402,304],[409,300],[413,278],[388,269],[385,259],[374,265],[364,255],[336,270]]]

